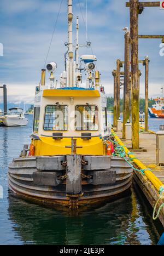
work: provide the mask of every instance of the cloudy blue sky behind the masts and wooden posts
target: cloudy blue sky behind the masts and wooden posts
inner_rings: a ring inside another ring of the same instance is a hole
[[[73,0],[75,17],[79,16],[80,43],[86,42],[84,21],[79,9],[80,2],[85,18],[85,0]],[[125,0],[88,0],[88,34],[93,53],[97,55],[97,67],[101,70],[102,84],[106,92],[113,93],[112,70],[116,59],[124,59],[124,32],[129,27],[129,8]],[[1,0],[0,43],[4,45],[4,56],[0,56],[0,84],[7,84],[9,101],[25,100],[31,103],[34,89],[40,79],[60,0]],[[164,11],[145,8],[139,15],[139,34],[164,34]],[[75,38],[74,38],[75,39]],[[57,62],[56,79],[64,69],[63,54],[67,41],[67,0],[63,0],[48,61]],[[139,40],[139,59],[149,55],[149,96],[160,95],[164,84],[163,61],[160,56],[159,39]],[[80,54],[91,53],[91,49],[80,50]],[[142,78],[140,94],[144,95],[144,69],[140,65]],[[48,73],[47,73],[48,77]],[[47,83],[49,83],[47,79]],[[0,92],[2,101],[2,92]]]

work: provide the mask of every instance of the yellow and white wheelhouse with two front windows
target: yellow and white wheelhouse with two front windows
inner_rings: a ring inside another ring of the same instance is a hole
[[[95,88],[43,89],[36,97],[40,99],[34,105],[32,143],[36,155],[69,154],[66,145],[71,145],[71,138],[81,145],[77,153],[106,155],[102,136],[109,130],[104,92]]]

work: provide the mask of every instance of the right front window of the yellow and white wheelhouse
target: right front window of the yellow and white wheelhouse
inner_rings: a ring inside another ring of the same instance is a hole
[[[75,106],[75,130],[98,130],[97,106]]]

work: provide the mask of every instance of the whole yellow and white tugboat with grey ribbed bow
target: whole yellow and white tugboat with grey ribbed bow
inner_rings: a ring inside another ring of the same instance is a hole
[[[99,82],[97,58],[82,55],[79,64],[79,19],[74,46],[72,20],[69,0],[66,69],[59,86],[54,83],[55,62],[46,66],[50,86],[45,86],[42,70],[36,87],[31,145],[24,145],[20,157],[10,163],[8,178],[9,189],[16,195],[78,209],[127,191],[132,169],[124,159],[112,155],[107,98]],[[83,84],[81,71],[86,73]]]

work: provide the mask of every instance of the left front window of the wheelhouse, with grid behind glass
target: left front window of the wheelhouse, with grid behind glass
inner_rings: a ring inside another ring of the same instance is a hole
[[[68,130],[68,106],[46,106],[44,130]]]

